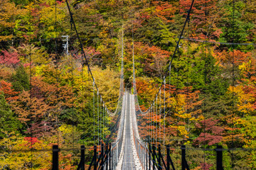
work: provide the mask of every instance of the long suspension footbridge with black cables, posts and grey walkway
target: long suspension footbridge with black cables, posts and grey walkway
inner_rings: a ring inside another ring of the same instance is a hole
[[[184,28],[189,21],[189,15],[191,12],[191,8],[194,4],[194,1],[191,3],[191,7],[187,13],[187,19],[184,23]],[[67,4],[69,8],[69,4]],[[75,23],[72,19],[72,12],[69,8],[69,13],[71,16],[72,25],[76,30]],[[177,42],[177,46],[174,50],[173,57],[177,52],[179,47],[179,41],[182,39],[182,35],[184,32],[184,28],[182,29],[182,33],[180,33],[179,40]],[[76,30],[77,33],[77,30]],[[77,37],[79,38],[79,34],[77,33]],[[80,40],[79,40],[80,41]],[[82,42],[80,41],[80,47],[83,52]],[[134,50],[133,50],[133,91],[131,91],[128,87],[124,88],[123,83],[123,39],[122,39],[122,61],[121,61],[121,82],[120,82],[120,92],[118,105],[116,107],[116,112],[111,113],[106,108],[106,113],[108,116],[118,115],[115,125],[113,126],[111,132],[116,132],[116,137],[113,135],[109,135],[108,140],[106,142],[101,141],[98,142],[98,145],[94,145],[94,156],[91,159],[88,169],[128,169],[128,170],[137,170],[137,169],[179,169],[182,170],[189,169],[189,165],[187,163],[186,158],[186,147],[182,145],[180,149],[180,166],[174,166],[174,162],[172,161],[172,157],[170,154],[170,150],[172,148],[169,145],[165,145],[165,126],[162,126],[157,123],[156,119],[163,118],[165,120],[165,98],[166,98],[166,79],[168,76],[171,67],[172,60],[169,62],[168,71],[165,74],[165,77],[162,81],[160,89],[155,96],[154,101],[152,101],[152,105],[145,112],[141,111],[137,89],[136,89],[136,79],[135,79],[135,64],[134,64]],[[93,79],[93,85],[96,87],[97,98],[101,100],[102,98],[99,94],[99,89],[96,86],[94,81],[93,74],[90,71],[89,64],[87,62],[87,58],[84,55],[84,60],[86,60],[86,64],[88,66],[88,70]],[[161,96],[162,95],[162,96]],[[161,101],[162,100],[162,101]],[[161,106],[164,105],[164,106]],[[104,106],[105,107],[105,106]],[[161,115],[162,113],[162,115]],[[143,124],[143,115],[147,115],[151,118],[150,126],[154,128],[148,128],[143,132],[141,130],[141,126]],[[154,120],[155,119],[155,120]],[[98,121],[99,123],[99,121]],[[165,124],[165,123],[164,123]],[[99,126],[99,124],[98,124]],[[140,130],[139,130],[140,129]],[[94,131],[95,132],[95,131]],[[161,136],[163,132],[163,136]],[[141,133],[144,133],[143,138]],[[98,131],[99,136],[99,131]],[[111,139],[113,137],[113,139]],[[84,146],[81,147],[81,160],[79,162],[79,166],[77,169],[84,170]],[[58,169],[58,149],[57,145],[53,146],[52,150],[52,169]],[[221,146],[217,146],[216,149],[213,150],[216,152],[216,169],[223,169],[222,166],[222,152],[223,149]]]

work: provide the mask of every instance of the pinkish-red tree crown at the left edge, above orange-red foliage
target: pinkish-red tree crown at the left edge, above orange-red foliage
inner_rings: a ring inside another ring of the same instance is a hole
[[[3,55],[0,55],[0,64],[5,64],[8,67],[16,67],[20,60],[18,59],[17,52],[2,51]]]

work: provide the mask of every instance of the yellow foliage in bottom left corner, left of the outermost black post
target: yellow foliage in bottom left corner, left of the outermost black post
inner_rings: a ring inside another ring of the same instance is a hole
[[[0,169],[50,169],[51,147],[41,140],[32,145],[24,137],[14,132],[0,140],[3,151],[0,153]],[[30,148],[33,150],[30,150]]]

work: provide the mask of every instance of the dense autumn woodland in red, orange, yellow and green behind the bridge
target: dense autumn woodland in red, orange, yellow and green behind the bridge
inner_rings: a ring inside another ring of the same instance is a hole
[[[122,39],[125,86],[133,86],[134,44],[138,99],[146,110],[167,72],[191,0],[69,4],[108,110],[116,110],[119,96]],[[216,145],[247,149],[224,152],[225,169],[256,169],[255,24],[255,0],[195,0],[165,91],[162,86],[165,104],[158,104],[165,106],[165,121],[141,116],[145,139],[154,121],[165,126],[165,145],[195,148],[187,152],[191,169],[215,169]],[[69,35],[68,55],[62,35]],[[101,137],[94,129],[99,113]],[[97,95],[65,1],[1,0],[0,169],[50,169],[52,145],[90,147],[110,134],[114,121]],[[91,150],[86,152],[89,162]],[[172,152],[180,164],[179,152]],[[60,152],[60,169],[76,169],[78,163],[79,150]]]

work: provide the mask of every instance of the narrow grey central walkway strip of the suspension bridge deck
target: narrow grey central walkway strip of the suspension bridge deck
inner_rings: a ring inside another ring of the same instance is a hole
[[[124,146],[124,154],[123,154],[123,164],[122,169],[135,169],[135,162],[133,159],[133,149],[131,143],[131,135],[130,135],[130,94],[128,94],[127,104],[126,104],[126,140]]]

